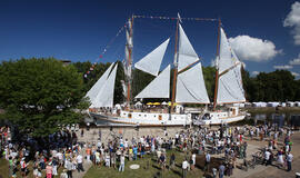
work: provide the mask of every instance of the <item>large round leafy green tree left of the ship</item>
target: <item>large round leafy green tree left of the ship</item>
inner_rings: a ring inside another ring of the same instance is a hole
[[[59,125],[78,122],[89,103],[76,68],[49,59],[21,59],[0,65],[1,116],[33,137],[56,132]]]

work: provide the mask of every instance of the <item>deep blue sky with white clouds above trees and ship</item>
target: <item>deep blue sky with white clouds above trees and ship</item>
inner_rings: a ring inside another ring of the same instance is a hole
[[[56,57],[71,61],[123,59],[124,33],[131,14],[220,18],[233,49],[250,73],[288,69],[300,73],[300,3],[291,0],[194,1],[0,1],[0,60]],[[210,66],[217,51],[217,22],[183,21],[182,27]],[[134,61],[171,37],[163,67],[172,61],[176,21],[134,19]],[[299,36],[298,36],[299,34]]]

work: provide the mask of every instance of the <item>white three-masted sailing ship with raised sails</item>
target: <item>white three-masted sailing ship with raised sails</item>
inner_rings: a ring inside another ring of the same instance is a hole
[[[173,86],[169,108],[164,109],[132,109],[131,108],[131,70],[132,70],[132,23],[129,19],[129,31],[126,31],[126,62],[123,63],[126,81],[123,82],[124,95],[127,95],[127,106],[113,106],[113,90],[118,63],[112,63],[94,86],[88,91],[87,97],[91,100],[90,116],[96,119],[97,125],[112,126],[184,126],[184,125],[216,125],[231,122],[244,118],[238,108],[230,108],[227,111],[184,111],[174,108],[176,105],[202,103],[209,105],[210,100],[204,85],[202,65],[187,37],[181,19],[177,20],[176,48],[173,59]],[[241,85],[241,68],[233,50],[219,27],[221,42],[218,56],[218,96],[214,103],[228,103],[243,101],[243,89]],[[219,39],[219,38],[218,38]],[[134,99],[144,98],[170,98],[171,65],[168,65],[161,72],[160,67],[170,39],[163,41],[150,53],[134,63],[134,68],[150,73],[156,78]],[[219,40],[218,40],[219,41]],[[218,42],[219,43],[219,42]],[[178,48],[178,50],[177,50]],[[238,81],[239,80],[239,81]],[[237,89],[240,89],[237,91]],[[203,113],[203,115],[202,115]]]

